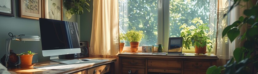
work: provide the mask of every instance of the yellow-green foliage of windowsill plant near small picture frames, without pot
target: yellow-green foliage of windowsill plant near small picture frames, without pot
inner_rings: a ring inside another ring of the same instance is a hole
[[[133,29],[126,32],[125,37],[129,42],[140,42],[141,39],[144,38],[144,34],[143,31],[137,31],[135,27],[133,27]]]

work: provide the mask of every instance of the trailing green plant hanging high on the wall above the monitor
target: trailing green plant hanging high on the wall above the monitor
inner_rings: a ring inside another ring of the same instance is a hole
[[[67,19],[71,19],[73,14],[83,14],[83,8],[90,12],[89,2],[87,2],[87,0],[65,0],[64,5],[67,9],[65,12],[65,17]]]

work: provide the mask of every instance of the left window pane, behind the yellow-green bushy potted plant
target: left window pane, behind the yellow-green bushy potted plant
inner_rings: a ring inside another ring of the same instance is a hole
[[[120,33],[135,27],[145,34],[139,46],[157,46],[157,0],[118,1]],[[128,41],[125,46],[130,46]]]

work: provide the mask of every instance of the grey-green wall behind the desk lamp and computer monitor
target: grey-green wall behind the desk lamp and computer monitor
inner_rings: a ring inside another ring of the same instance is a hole
[[[64,1],[64,0],[63,0]],[[93,2],[93,1],[91,1]],[[6,15],[0,15],[0,57],[6,53],[6,39],[10,38],[8,33],[11,32],[14,35],[38,35],[40,36],[39,21],[34,19],[26,19],[18,17],[18,0],[14,0],[14,14],[15,17]],[[63,6],[64,7],[64,6]],[[66,9],[63,8],[63,13]],[[71,19],[66,19],[63,14],[64,21],[79,22],[80,16],[73,15]],[[49,57],[42,56],[41,41],[11,41],[11,50],[14,53],[22,53],[31,50],[38,54],[34,55],[32,62],[42,62],[49,60]]]

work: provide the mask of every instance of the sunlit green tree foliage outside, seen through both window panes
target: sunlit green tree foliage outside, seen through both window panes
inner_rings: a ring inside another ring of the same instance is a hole
[[[157,0],[118,0],[119,26],[123,31],[136,27],[145,34],[139,46],[157,46],[158,15]],[[182,23],[191,24],[195,17],[203,18],[209,23],[211,10],[210,0],[169,0],[169,37],[179,37]],[[123,9],[127,9],[124,10]],[[216,10],[216,8],[214,8]],[[212,15],[212,18],[216,15]],[[190,26],[190,25],[189,25]],[[120,29],[120,32],[121,32]],[[125,46],[130,46],[129,41]]]

